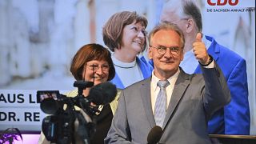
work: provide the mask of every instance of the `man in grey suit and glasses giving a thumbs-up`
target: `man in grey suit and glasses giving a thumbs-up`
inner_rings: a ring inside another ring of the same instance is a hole
[[[105,143],[147,143],[147,135],[156,125],[163,130],[160,143],[210,143],[207,120],[230,102],[222,70],[207,54],[201,34],[193,50],[202,74],[186,74],[179,67],[184,36],[177,26],[163,22],[149,38],[152,76],[122,90]],[[157,83],[162,81],[169,85],[159,90]],[[166,98],[165,102],[159,105],[158,97]],[[159,114],[160,109],[164,111]]]

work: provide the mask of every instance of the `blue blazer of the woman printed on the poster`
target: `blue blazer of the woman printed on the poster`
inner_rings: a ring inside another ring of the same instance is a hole
[[[140,69],[142,70],[142,74],[143,74],[143,78],[149,78],[151,76],[153,67],[146,62],[146,59],[144,57],[142,58],[136,58],[136,62],[138,64],[138,66],[140,67]],[[132,77],[132,75],[130,75]],[[127,77],[129,78],[129,77]],[[126,88],[125,86],[123,86],[121,79],[119,78],[118,74],[115,73],[114,78],[111,80],[112,83],[114,83],[118,89],[124,89]],[[135,83],[135,82],[134,82]]]

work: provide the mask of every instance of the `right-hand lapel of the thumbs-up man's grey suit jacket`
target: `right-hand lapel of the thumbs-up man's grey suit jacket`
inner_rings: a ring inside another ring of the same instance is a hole
[[[166,123],[170,120],[171,116],[174,114],[174,110],[178,106],[183,94],[186,91],[186,88],[190,85],[189,75],[180,68],[181,72],[178,75],[178,79],[174,85],[174,91],[170,98],[170,103],[166,111],[166,118],[163,122],[163,129],[166,127]]]

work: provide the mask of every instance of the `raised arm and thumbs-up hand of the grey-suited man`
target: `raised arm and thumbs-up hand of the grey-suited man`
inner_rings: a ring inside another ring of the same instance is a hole
[[[207,53],[206,46],[202,42],[202,35],[197,34],[193,43],[194,56],[198,59],[205,80],[203,102],[207,116],[210,116],[221,107],[230,102],[230,90],[222,70]]]

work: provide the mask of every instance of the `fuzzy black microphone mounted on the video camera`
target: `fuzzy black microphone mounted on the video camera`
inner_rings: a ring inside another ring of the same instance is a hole
[[[95,105],[106,105],[114,100],[117,93],[118,90],[114,84],[103,82],[92,87],[86,98]]]

